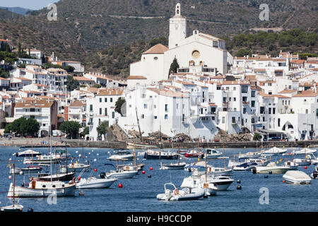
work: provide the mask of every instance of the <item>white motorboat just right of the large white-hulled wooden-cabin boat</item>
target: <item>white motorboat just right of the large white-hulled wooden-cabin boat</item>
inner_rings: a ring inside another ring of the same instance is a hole
[[[100,178],[96,178],[93,176],[93,170],[87,179],[81,178],[84,172],[85,170],[82,170],[76,178],[76,189],[107,189],[117,181],[117,178],[106,178],[105,172],[100,173]]]

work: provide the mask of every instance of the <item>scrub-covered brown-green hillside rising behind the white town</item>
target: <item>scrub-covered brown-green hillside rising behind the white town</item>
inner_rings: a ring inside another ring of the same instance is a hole
[[[252,32],[249,30],[252,28],[301,28],[303,32],[318,33],[317,0],[179,2],[182,16],[187,18],[187,35],[198,29],[223,37],[234,51],[239,47],[232,46],[232,37]],[[14,44],[21,42],[24,46],[43,49],[47,55],[54,52],[60,59],[81,61],[86,69],[108,71],[105,60],[110,56],[102,51],[120,44],[128,44],[134,49],[139,40],[149,42],[153,38],[167,37],[168,19],[175,14],[176,3],[170,0],[60,0],[57,21],[47,20],[47,8],[30,12],[23,18],[0,16],[4,19],[0,20],[0,38],[2,34]],[[261,4],[269,4],[269,21],[259,20]],[[278,43],[278,40],[273,41]],[[266,47],[268,45],[259,46],[257,51],[266,50]],[[138,46],[135,48],[139,49]],[[139,59],[138,54],[135,55],[137,57],[130,60]],[[119,70],[122,73],[122,69]]]

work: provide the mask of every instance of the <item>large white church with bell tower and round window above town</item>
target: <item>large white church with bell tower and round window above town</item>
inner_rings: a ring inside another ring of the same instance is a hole
[[[170,65],[177,59],[179,73],[204,73],[208,75],[228,73],[232,56],[225,49],[225,41],[194,30],[187,37],[187,20],[181,16],[181,5],[175,7],[170,18],[169,47],[163,44],[143,52],[141,60],[130,65],[128,87],[151,85],[167,80]]]

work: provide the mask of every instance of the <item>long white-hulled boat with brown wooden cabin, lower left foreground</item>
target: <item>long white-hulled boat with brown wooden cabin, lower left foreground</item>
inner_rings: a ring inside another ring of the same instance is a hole
[[[54,196],[75,196],[76,186],[74,183],[45,182],[32,180],[28,187],[16,186],[14,196],[19,198]],[[13,198],[13,184],[10,184],[8,198]]]

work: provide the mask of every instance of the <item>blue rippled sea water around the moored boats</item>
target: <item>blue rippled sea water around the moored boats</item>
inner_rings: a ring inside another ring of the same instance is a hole
[[[47,153],[45,148],[35,148],[34,150]],[[82,148],[68,148],[68,153],[76,157],[73,162],[83,162]],[[294,148],[295,150],[295,148]],[[0,206],[11,205],[12,200],[6,198],[8,188],[13,182],[9,176],[8,160],[20,160],[16,167],[25,167],[23,157],[13,156],[19,148],[1,147],[0,148]],[[137,150],[141,151],[141,150]],[[220,148],[223,152],[223,148]],[[255,151],[254,148],[225,148],[225,156],[238,155]],[[290,152],[288,149],[287,153]],[[107,160],[110,154],[114,154],[113,149],[108,148],[84,148],[84,160],[89,160],[93,169],[97,169],[95,175],[98,177],[100,172],[107,172],[112,167],[105,166],[105,163],[116,162]],[[140,158],[140,156],[137,156]],[[302,156],[304,157],[304,156]],[[285,156],[272,157],[271,160],[279,162],[285,160]],[[290,159],[290,157],[289,157]],[[94,161],[95,160],[95,161]],[[186,160],[194,162],[196,157]],[[225,160],[225,165],[228,165]],[[138,162],[142,161],[141,159]],[[176,160],[162,160],[165,163],[177,162]],[[184,161],[182,158],[180,161]],[[202,160],[204,161],[204,160]],[[71,161],[69,161],[71,162]],[[69,163],[68,162],[68,163]],[[126,161],[125,163],[132,162]],[[312,179],[309,185],[293,185],[283,183],[283,174],[252,174],[251,171],[233,172],[235,181],[230,185],[228,191],[218,191],[217,196],[210,196],[197,201],[158,201],[156,196],[164,193],[163,185],[172,182],[179,187],[184,177],[189,176],[189,172],[179,170],[160,170],[160,160],[143,160],[145,166],[142,174],[140,171],[133,179],[118,179],[109,189],[83,189],[84,195],[79,196],[81,190],[76,190],[76,195],[72,197],[59,197],[56,202],[48,201],[48,198],[17,198],[25,210],[33,208],[35,212],[224,212],[224,211],[317,211],[318,210],[318,179]],[[12,163],[12,162],[11,162]],[[224,167],[224,160],[211,160],[208,164],[215,167]],[[150,170],[150,168],[153,170]],[[47,172],[49,167],[44,167]],[[314,166],[303,166],[298,168],[311,174]],[[53,172],[55,165],[53,165]],[[78,175],[78,173],[77,173]],[[148,177],[151,175],[151,177]],[[84,174],[82,177],[88,177]],[[23,180],[28,182],[28,175],[16,175],[16,186],[23,184]],[[240,180],[240,184],[237,184]],[[119,188],[122,184],[122,188]],[[240,185],[242,189],[237,189]],[[266,194],[264,191],[267,191]],[[265,197],[266,196],[266,197]]]

